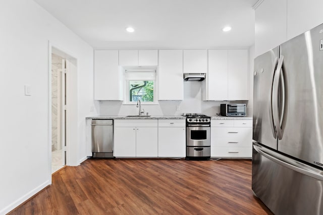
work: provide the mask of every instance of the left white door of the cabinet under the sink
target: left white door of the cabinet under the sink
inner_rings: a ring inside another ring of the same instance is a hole
[[[114,156],[136,157],[136,128],[115,127]]]

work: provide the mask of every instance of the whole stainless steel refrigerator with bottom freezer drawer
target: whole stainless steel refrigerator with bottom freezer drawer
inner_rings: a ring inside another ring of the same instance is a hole
[[[275,214],[323,214],[323,24],[254,60],[252,190]]]

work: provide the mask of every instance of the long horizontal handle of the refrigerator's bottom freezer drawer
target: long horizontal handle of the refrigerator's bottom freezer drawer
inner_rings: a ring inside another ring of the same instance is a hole
[[[296,172],[299,172],[301,174],[310,176],[312,178],[315,178],[317,180],[323,181],[323,171],[320,171],[318,169],[315,169],[311,166],[308,166],[306,164],[300,163],[294,159],[288,158],[286,156],[283,156],[279,153],[273,152],[272,150],[268,150],[264,147],[261,147],[257,144],[253,144],[253,149],[257,151],[260,155],[266,157],[267,159],[274,161],[275,163],[282,165],[288,169],[292,169]],[[266,151],[266,152],[265,152]]]

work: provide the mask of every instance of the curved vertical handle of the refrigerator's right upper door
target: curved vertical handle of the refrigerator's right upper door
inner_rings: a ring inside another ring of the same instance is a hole
[[[274,124],[275,124],[275,128],[277,131],[277,136],[278,139],[282,139],[283,138],[283,130],[281,127],[281,120],[279,118],[279,109],[278,109],[278,105],[279,105],[279,83],[280,83],[280,79],[282,77],[282,67],[283,67],[283,60],[284,60],[284,56],[281,55],[281,57],[278,60],[277,63],[277,69],[275,72],[275,76],[274,76],[274,82],[273,82],[273,94],[272,94],[272,99],[273,99],[273,118],[274,118]]]

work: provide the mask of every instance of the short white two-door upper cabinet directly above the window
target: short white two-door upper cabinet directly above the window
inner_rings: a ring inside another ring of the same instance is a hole
[[[120,50],[119,65],[156,66],[157,50]]]

